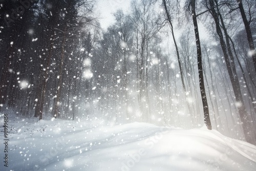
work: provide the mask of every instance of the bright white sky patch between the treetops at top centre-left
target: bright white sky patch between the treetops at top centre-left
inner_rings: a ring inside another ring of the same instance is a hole
[[[101,27],[106,30],[110,25],[114,24],[115,13],[118,9],[122,9],[124,13],[129,13],[131,0],[96,0],[96,13],[99,14],[99,22]]]

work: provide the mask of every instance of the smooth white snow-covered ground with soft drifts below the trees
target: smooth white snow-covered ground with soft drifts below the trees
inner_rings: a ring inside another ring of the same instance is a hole
[[[256,146],[201,129],[1,114],[0,170],[256,170]]]

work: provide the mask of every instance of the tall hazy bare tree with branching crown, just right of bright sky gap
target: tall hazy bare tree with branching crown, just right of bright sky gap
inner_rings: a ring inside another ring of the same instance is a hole
[[[138,101],[140,112],[148,120],[150,115],[150,98],[148,97],[148,42],[163,27],[161,15],[154,9],[155,0],[142,0],[140,3],[132,3],[131,19],[137,32],[138,57]]]

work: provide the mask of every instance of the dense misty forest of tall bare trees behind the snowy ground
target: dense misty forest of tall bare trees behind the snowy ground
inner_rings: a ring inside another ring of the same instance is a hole
[[[106,30],[94,0],[0,5],[1,111],[256,144],[255,0],[134,0]]]

